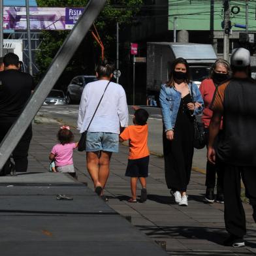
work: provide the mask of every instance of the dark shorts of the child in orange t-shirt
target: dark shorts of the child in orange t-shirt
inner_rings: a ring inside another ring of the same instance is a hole
[[[148,177],[148,163],[150,156],[138,159],[128,159],[125,176],[129,177]]]

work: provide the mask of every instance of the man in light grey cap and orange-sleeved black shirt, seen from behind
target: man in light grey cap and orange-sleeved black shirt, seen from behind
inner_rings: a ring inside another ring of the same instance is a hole
[[[231,56],[233,72],[230,81],[216,89],[212,101],[214,114],[210,123],[208,160],[212,163],[217,157],[225,165],[224,197],[225,225],[230,236],[226,246],[244,246],[246,216],[240,198],[241,177],[246,187],[246,197],[253,206],[256,221],[256,84],[251,79],[250,54],[244,48],[234,50]],[[217,152],[213,145],[219,132],[223,116],[223,136]]]

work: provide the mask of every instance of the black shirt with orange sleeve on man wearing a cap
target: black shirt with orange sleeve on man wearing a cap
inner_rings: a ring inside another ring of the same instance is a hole
[[[256,166],[256,83],[232,78],[217,88],[212,110],[223,114],[219,158],[238,166]]]

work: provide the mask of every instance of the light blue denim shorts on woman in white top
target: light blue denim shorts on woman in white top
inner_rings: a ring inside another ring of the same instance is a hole
[[[91,133],[86,135],[86,151],[118,152],[119,135],[117,133]]]

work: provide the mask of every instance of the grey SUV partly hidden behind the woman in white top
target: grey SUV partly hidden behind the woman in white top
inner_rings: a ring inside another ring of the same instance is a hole
[[[74,102],[80,102],[84,86],[90,82],[96,81],[96,76],[75,76],[69,86],[67,87],[67,104],[71,104]]]

